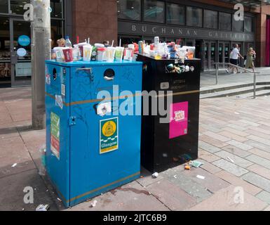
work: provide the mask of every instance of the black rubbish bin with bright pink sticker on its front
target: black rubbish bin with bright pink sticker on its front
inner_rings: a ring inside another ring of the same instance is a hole
[[[143,63],[142,89],[154,91],[149,95],[151,101],[143,105],[149,108],[149,115],[144,112],[142,116],[142,165],[161,172],[196,160],[201,60],[156,60],[139,54],[137,61]]]

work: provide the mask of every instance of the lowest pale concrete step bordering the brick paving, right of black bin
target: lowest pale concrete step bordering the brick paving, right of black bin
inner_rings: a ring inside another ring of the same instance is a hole
[[[270,91],[270,85],[257,85],[256,91],[264,91],[268,89]],[[239,96],[242,94],[252,94],[253,93],[253,86],[244,86],[240,87],[237,86],[234,89],[226,89],[225,91],[215,91],[208,94],[201,94],[201,99],[203,98],[222,98],[227,96]]]

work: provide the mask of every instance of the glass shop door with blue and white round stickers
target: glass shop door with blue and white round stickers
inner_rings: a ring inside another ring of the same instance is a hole
[[[11,18],[11,86],[31,85],[31,30],[25,20]]]

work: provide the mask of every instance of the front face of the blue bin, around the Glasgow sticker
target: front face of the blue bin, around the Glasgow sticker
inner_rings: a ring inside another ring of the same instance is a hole
[[[112,95],[113,86],[117,85],[117,98],[122,91],[133,95],[141,91],[142,66],[92,66],[91,73],[77,69],[72,68],[71,77],[71,115],[76,117],[76,125],[71,127],[70,205],[140,177],[140,115],[120,115],[119,106],[126,99],[120,99],[119,105],[114,105],[117,100],[112,101],[114,115],[102,117],[97,115],[96,108],[100,103],[98,91],[105,90]],[[104,79],[108,69],[115,73],[112,81]],[[133,113],[135,98],[138,100],[140,96],[130,96],[127,101]],[[118,121],[118,149],[100,154],[100,121],[114,118]]]

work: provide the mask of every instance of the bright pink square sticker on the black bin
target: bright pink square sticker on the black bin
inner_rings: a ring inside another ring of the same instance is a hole
[[[189,124],[189,103],[170,105],[170,139],[187,135]]]

